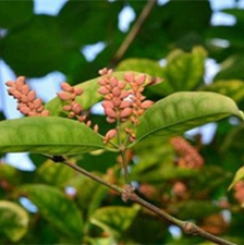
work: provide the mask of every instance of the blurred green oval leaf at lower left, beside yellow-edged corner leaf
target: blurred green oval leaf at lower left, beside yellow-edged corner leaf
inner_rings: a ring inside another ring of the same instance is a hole
[[[23,191],[38,207],[38,211],[44,218],[59,232],[68,235],[73,242],[81,243],[83,218],[73,200],[58,188],[42,184],[26,185]]]

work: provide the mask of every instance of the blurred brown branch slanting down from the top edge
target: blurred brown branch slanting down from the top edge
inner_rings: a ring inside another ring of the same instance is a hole
[[[118,49],[117,53],[113,57],[113,64],[117,63],[126,52],[132,41],[135,39],[136,35],[138,34],[143,23],[146,21],[147,16],[149,15],[150,11],[152,10],[157,0],[148,0],[147,4],[144,7],[143,11],[141,12],[137,21],[133,25],[131,32],[125,37],[124,41]]]

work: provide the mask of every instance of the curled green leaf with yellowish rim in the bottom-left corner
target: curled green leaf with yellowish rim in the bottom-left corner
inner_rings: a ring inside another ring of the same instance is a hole
[[[17,242],[28,231],[28,213],[12,201],[0,200],[0,231]]]

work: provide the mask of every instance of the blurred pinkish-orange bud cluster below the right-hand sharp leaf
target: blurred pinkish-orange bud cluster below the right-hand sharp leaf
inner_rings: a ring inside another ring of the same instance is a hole
[[[204,164],[203,157],[183,137],[173,137],[170,143],[179,156],[178,166],[187,169],[199,169]]]

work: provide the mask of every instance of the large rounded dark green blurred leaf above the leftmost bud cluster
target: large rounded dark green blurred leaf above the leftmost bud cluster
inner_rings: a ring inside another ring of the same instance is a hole
[[[36,77],[60,71],[65,61],[60,32],[54,16],[35,15],[2,38],[1,56],[16,74]]]

